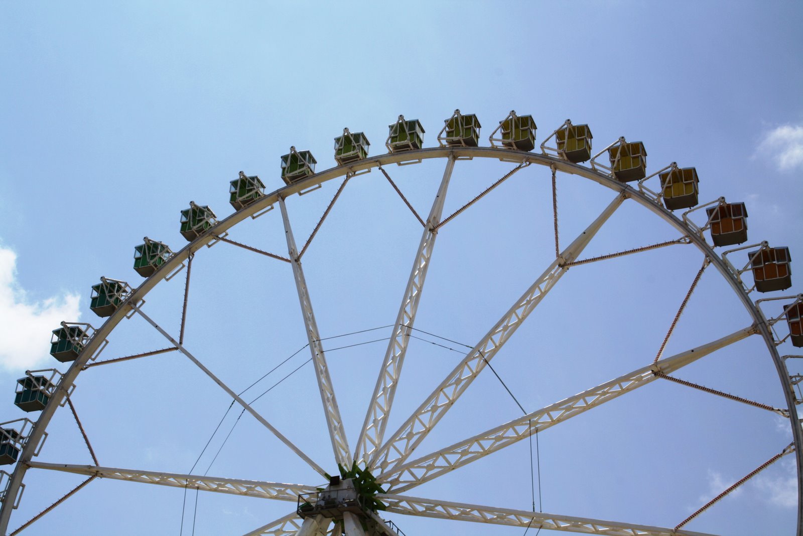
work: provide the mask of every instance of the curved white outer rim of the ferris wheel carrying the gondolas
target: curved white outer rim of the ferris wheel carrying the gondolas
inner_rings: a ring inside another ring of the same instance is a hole
[[[516,149],[506,149],[501,147],[466,147],[466,146],[439,146],[426,149],[413,149],[403,152],[385,153],[376,157],[365,158],[364,160],[349,163],[344,166],[334,166],[328,170],[320,171],[316,174],[309,175],[306,178],[300,179],[296,182],[291,182],[269,194],[263,194],[255,200],[254,203],[249,204],[247,207],[234,211],[233,214],[215,223],[206,232],[187,243],[179,251],[170,256],[165,263],[161,265],[151,276],[147,277],[139,286],[132,288],[132,292],[120,307],[118,307],[110,317],[104,321],[92,336],[92,339],[84,346],[82,350],[71,363],[71,366],[63,374],[62,381],[59,383],[58,388],[51,396],[50,403],[40,412],[39,418],[36,419],[35,425],[28,436],[26,444],[20,452],[19,460],[11,474],[8,487],[6,488],[6,497],[17,497],[24,479],[27,464],[33,456],[37,445],[39,444],[43,432],[47,429],[55,410],[62,403],[64,397],[68,394],[71,387],[75,384],[75,379],[78,374],[83,370],[87,362],[96,353],[99,347],[103,344],[109,333],[112,333],[116,325],[120,323],[129,313],[137,310],[141,305],[145,296],[166,276],[181,269],[182,263],[190,256],[202,248],[211,247],[218,240],[218,237],[225,235],[231,227],[238,223],[242,223],[248,218],[255,218],[265,211],[272,210],[279,200],[288,198],[292,194],[305,194],[308,191],[316,189],[324,182],[332,179],[341,178],[344,176],[353,176],[361,173],[368,173],[374,168],[381,168],[390,164],[406,165],[412,163],[422,162],[422,160],[438,159],[438,158],[454,158],[455,160],[471,160],[473,158],[487,158],[491,160],[500,160],[503,162],[512,162],[519,164],[536,164],[539,166],[546,166],[553,170],[558,170],[566,174],[574,174],[581,178],[588,179],[592,182],[597,182],[601,186],[609,188],[622,195],[625,198],[631,198],[642,207],[646,207],[655,215],[658,215],[666,223],[675,227],[677,231],[687,236],[690,243],[694,243],[700,252],[715,266],[720,276],[724,277],[731,286],[733,292],[740,298],[744,308],[752,317],[753,326],[757,334],[760,334],[764,339],[765,345],[768,348],[770,357],[776,366],[777,373],[781,379],[781,388],[784,392],[785,402],[789,411],[789,419],[792,423],[799,423],[800,419],[797,414],[797,406],[795,404],[795,395],[789,382],[785,381],[788,378],[788,371],[786,370],[785,362],[777,351],[774,338],[768,326],[768,321],[764,317],[759,307],[754,303],[748,293],[744,290],[740,281],[736,279],[731,269],[725,264],[723,257],[715,252],[714,248],[707,243],[703,238],[702,233],[695,232],[683,219],[679,218],[674,212],[666,209],[660,201],[650,198],[641,190],[619,182],[609,174],[604,174],[601,171],[581,166],[581,164],[569,162],[558,157],[553,157],[546,153],[530,153]],[[133,307],[132,307],[133,305]],[[798,493],[798,507],[797,507],[797,534],[803,536],[803,428],[801,426],[792,426],[793,432],[793,445],[795,450],[795,459],[797,465],[797,493]],[[0,505],[0,534],[6,534],[10,514],[14,509],[14,501],[2,501]]]

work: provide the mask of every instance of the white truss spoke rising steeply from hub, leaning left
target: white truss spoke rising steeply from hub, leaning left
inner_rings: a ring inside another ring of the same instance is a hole
[[[296,239],[293,238],[293,231],[290,227],[290,219],[287,217],[287,207],[284,199],[279,197],[279,207],[282,209],[282,220],[284,222],[284,235],[287,238],[287,252],[293,259],[293,276],[296,280],[296,290],[299,295],[301,313],[304,316],[304,327],[307,332],[309,351],[312,354],[312,363],[315,366],[315,375],[318,380],[318,390],[320,399],[324,405],[326,424],[329,429],[329,439],[332,440],[332,450],[335,453],[335,460],[344,467],[352,464],[349,441],[343,428],[343,419],[340,419],[340,408],[337,407],[335,390],[332,386],[332,378],[329,376],[329,367],[324,356],[324,346],[320,343],[318,325],[315,321],[315,313],[312,312],[312,301],[310,301],[307,288],[307,281],[304,279],[304,271],[301,269],[298,250],[296,249]]]

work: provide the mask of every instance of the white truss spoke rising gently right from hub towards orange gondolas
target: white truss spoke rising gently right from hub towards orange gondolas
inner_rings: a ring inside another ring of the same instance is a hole
[[[592,407],[601,406],[603,403],[616,399],[625,393],[635,391],[638,387],[645,386],[660,378],[661,374],[669,374],[671,371],[679,370],[715,350],[720,350],[734,342],[741,341],[754,333],[756,333],[756,329],[750,326],[706,345],[698,346],[670,358],[664,358],[657,363],[642,366],[640,369],[623,374],[609,382],[601,383],[597,387],[592,387],[578,395],[563,399],[540,410],[532,411],[528,415],[481,432],[467,440],[459,441],[437,452],[432,452],[417,460],[397,466],[388,473],[380,474],[377,477],[377,481],[387,482],[394,493],[412,489],[456,468],[479,460],[492,452],[527,439],[534,433],[542,432],[557,423],[562,423],[580,415]]]

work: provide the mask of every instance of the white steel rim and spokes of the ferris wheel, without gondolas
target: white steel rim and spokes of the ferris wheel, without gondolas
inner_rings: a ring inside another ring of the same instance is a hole
[[[380,370],[380,378],[377,380],[371,406],[366,415],[365,423],[361,429],[360,441],[354,456],[350,455],[348,443],[340,420],[340,412],[336,405],[334,390],[331,378],[328,377],[328,368],[324,358],[324,353],[319,344],[319,334],[312,313],[312,305],[309,300],[308,290],[304,281],[304,273],[301,269],[300,261],[297,258],[295,240],[292,237],[287,209],[284,199],[291,194],[303,193],[312,188],[320,186],[322,182],[333,178],[342,177],[346,174],[356,174],[361,171],[371,170],[377,166],[388,166],[389,164],[410,162],[414,160],[424,160],[430,158],[447,158],[446,171],[442,178],[442,186],[438,190],[430,217],[427,220],[422,242],[419,245],[414,268],[411,272],[402,307],[394,325],[393,338],[389,344],[389,349],[385,354],[385,362]],[[564,252],[550,265],[544,273],[536,279],[530,288],[514,303],[511,309],[499,319],[499,321],[479,340],[475,347],[467,354],[466,358],[455,367],[441,386],[438,387],[410,416],[402,428],[394,432],[389,440],[382,444],[383,433],[387,422],[387,415],[391,409],[393,401],[393,390],[398,382],[398,374],[401,370],[402,361],[406,350],[406,341],[410,334],[410,327],[415,318],[418,299],[422,293],[424,278],[426,277],[426,267],[429,264],[432,254],[432,246],[437,233],[435,227],[440,219],[442,211],[442,201],[446,195],[446,185],[451,174],[451,167],[454,160],[471,158],[494,158],[506,162],[520,162],[521,164],[539,164],[551,167],[553,170],[560,170],[568,174],[576,174],[583,178],[597,182],[616,192],[613,202],[597,217],[594,223],[582,235],[566,248]],[[593,162],[592,162],[593,166]],[[419,457],[409,461],[414,448],[418,446],[424,436],[438,422],[438,419],[445,414],[450,405],[466,390],[471,381],[479,374],[487,362],[499,351],[516,328],[523,322],[529,313],[538,305],[540,300],[548,293],[549,289],[556,283],[560,276],[566,271],[566,264],[577,260],[577,257],[589,243],[594,233],[598,231],[602,223],[609,218],[613,211],[622,202],[630,198],[635,203],[646,207],[654,212],[672,227],[675,227],[680,235],[687,237],[690,243],[694,243],[707,260],[719,271],[724,280],[731,285],[737,297],[742,301],[745,309],[751,315],[753,323],[745,329],[740,329],[736,333],[721,338],[718,341],[710,342],[694,350],[688,350],[682,354],[677,354],[671,358],[664,358],[654,364],[643,366],[629,374],[624,374],[607,383],[597,387],[592,387],[583,391],[579,395],[569,397],[558,403],[533,411],[520,419],[514,419],[504,423],[499,427],[492,428],[467,440],[453,444],[429,455]],[[55,391],[51,395],[51,403],[39,414],[39,420],[35,423],[31,434],[19,456],[19,462],[14,468],[14,473],[8,479],[8,486],[5,492],[5,501],[0,509],[0,532],[6,533],[10,513],[15,502],[18,500],[22,489],[22,478],[29,468],[67,471],[71,473],[81,473],[97,477],[117,478],[120,480],[140,481],[158,485],[169,485],[173,487],[190,487],[205,489],[218,493],[234,493],[240,495],[251,495],[264,498],[272,498],[284,501],[296,501],[298,493],[314,491],[315,486],[289,485],[273,482],[241,481],[237,479],[223,479],[213,477],[198,477],[194,475],[182,475],[178,473],[155,473],[138,469],[102,468],[96,466],[81,466],[67,464],[46,464],[35,462],[36,446],[45,435],[47,424],[52,418],[56,407],[63,404],[67,395],[75,387],[75,378],[80,370],[87,364],[88,360],[104,345],[108,333],[130,313],[139,313],[146,321],[153,325],[165,338],[167,338],[182,354],[190,358],[192,362],[201,368],[218,386],[222,387],[228,395],[243,406],[251,415],[255,416],[260,423],[282,440],[293,452],[307,461],[320,474],[324,474],[322,468],[314,461],[309,459],[304,452],[300,451],[296,445],[292,444],[286,437],[282,436],[271,426],[258,412],[251,408],[238,395],[227,387],[225,383],[215,376],[206,366],[203,366],[197,358],[193,356],[184,346],[181,346],[167,333],[161,326],[157,325],[141,307],[147,293],[165,276],[172,274],[181,268],[182,260],[187,256],[198,252],[208,243],[208,235],[225,235],[226,231],[244,219],[269,210],[275,203],[279,203],[282,210],[283,223],[287,233],[287,248],[290,252],[293,273],[296,280],[296,287],[299,294],[300,305],[303,312],[304,323],[310,341],[313,362],[316,364],[316,377],[318,378],[320,395],[324,405],[324,412],[328,424],[328,432],[332,441],[332,448],[337,462],[350,465],[352,460],[360,460],[373,468],[373,472],[378,481],[386,482],[390,485],[394,493],[379,494],[377,498],[388,505],[388,512],[403,513],[416,516],[432,518],[445,518],[464,520],[471,522],[494,523],[508,526],[533,526],[543,527],[552,530],[564,530],[582,534],[621,534],[627,536],[634,535],[653,535],[670,536],[671,534],[699,534],[685,530],[666,529],[654,526],[634,525],[622,522],[606,522],[595,519],[575,518],[552,513],[533,513],[515,509],[504,509],[487,507],[480,505],[467,505],[450,501],[438,501],[422,499],[419,497],[406,497],[398,495],[397,492],[413,488],[424,481],[437,477],[438,474],[450,471],[456,467],[470,463],[479,457],[487,456],[490,452],[495,452],[500,448],[521,440],[531,431],[539,431],[548,428],[556,423],[570,419],[574,415],[597,407],[609,399],[616,398],[626,392],[650,383],[657,376],[655,373],[668,374],[673,370],[687,365],[703,357],[713,350],[728,346],[733,342],[746,338],[752,334],[764,339],[773,362],[777,367],[781,384],[783,387],[785,400],[788,409],[786,414],[792,423],[793,444],[795,446],[795,458],[797,460],[797,474],[801,474],[801,444],[803,444],[803,431],[798,424],[797,409],[795,406],[796,397],[793,393],[792,382],[789,381],[789,373],[786,370],[784,359],[779,356],[776,349],[776,339],[770,331],[771,323],[767,321],[764,314],[760,312],[757,305],[748,297],[748,288],[741,283],[739,273],[734,271],[727,260],[722,259],[711,246],[707,243],[702,231],[705,227],[697,227],[683,215],[683,219],[675,216],[670,211],[666,211],[660,204],[660,196],[651,195],[649,191],[633,188],[622,182],[618,182],[610,173],[605,174],[595,169],[566,162],[561,158],[548,156],[546,154],[524,153],[511,149],[494,149],[484,147],[438,147],[432,149],[418,149],[404,151],[402,153],[389,153],[379,157],[373,157],[361,162],[353,162],[350,166],[339,166],[311,175],[307,178],[293,182],[280,190],[251,203],[243,210],[235,212],[226,219],[223,219],[209,233],[205,233],[189,243],[180,252],[170,256],[157,272],[147,278],[138,288],[134,289],[127,300],[121,305],[104,325],[97,329],[94,337],[84,347],[84,351],[79,354],[75,362],[71,364],[63,378],[58,383]],[[696,209],[692,209],[694,211]],[[381,444],[381,447],[378,446]],[[345,463],[344,463],[345,462]],[[798,477],[798,493],[800,496],[801,479]],[[803,503],[798,506],[798,520],[803,519]],[[289,536],[290,534],[326,534],[329,521],[325,518],[307,518],[304,523],[296,518],[296,513],[288,513],[286,516],[268,523],[252,531],[249,534],[275,534]],[[349,516],[344,517],[344,525],[349,536],[361,536],[362,530],[359,523],[356,523]],[[379,525],[381,526],[381,525]],[[382,530],[385,530],[383,527]],[[798,529],[798,535],[803,531]]]

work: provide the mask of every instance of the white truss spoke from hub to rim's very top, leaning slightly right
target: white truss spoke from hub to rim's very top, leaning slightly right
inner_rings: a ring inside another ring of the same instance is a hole
[[[446,162],[446,170],[443,171],[441,186],[438,188],[438,194],[435,195],[432,203],[430,216],[426,219],[413,270],[410,272],[410,280],[407,281],[402,307],[396,317],[396,324],[393,325],[393,337],[390,339],[388,350],[385,352],[385,360],[379,370],[377,386],[373,389],[371,403],[365,414],[365,423],[363,423],[360,437],[357,440],[357,450],[354,451],[354,460],[358,464],[369,460],[371,454],[382,444],[382,437],[385,434],[385,427],[390,415],[390,407],[393,404],[393,395],[396,393],[399,376],[402,374],[402,364],[407,345],[410,343],[410,329],[412,329],[415,322],[415,314],[418,311],[418,302],[421,300],[426,272],[430,268],[430,257],[432,256],[435,239],[438,237],[438,231],[435,230],[435,227],[437,227],[441,219],[443,203],[446,201],[446,189],[449,186],[452,170],[454,170],[454,155],[450,155]]]

